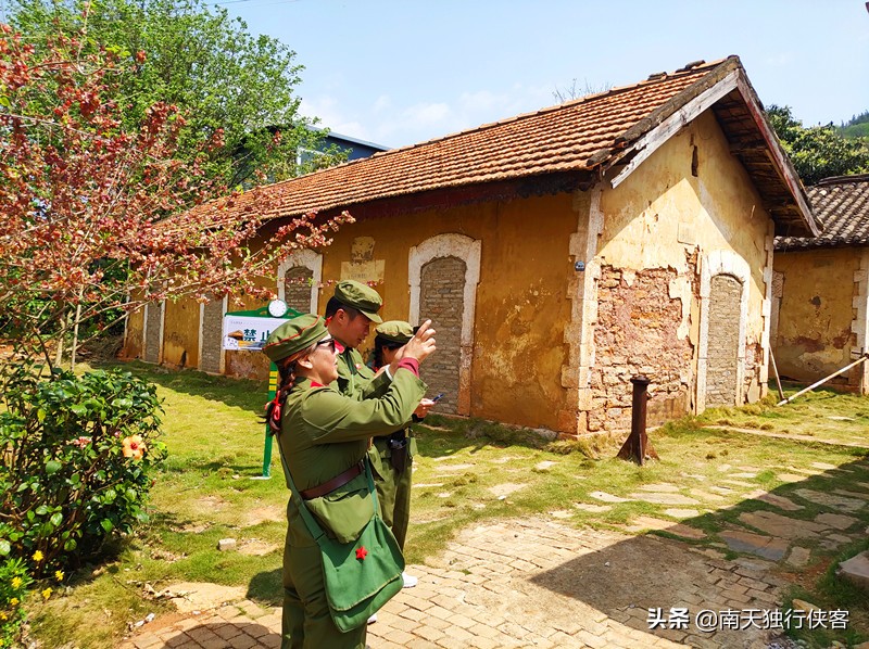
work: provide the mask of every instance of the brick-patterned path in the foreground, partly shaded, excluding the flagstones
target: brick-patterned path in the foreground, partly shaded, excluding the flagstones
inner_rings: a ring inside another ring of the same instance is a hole
[[[709,556],[713,555],[713,556]],[[774,608],[780,583],[761,561],[653,536],[576,530],[545,519],[464,531],[368,627],[371,649],[766,647],[768,632],[702,633],[694,615]],[[648,609],[688,609],[688,628],[650,631]],[[280,611],[251,601],[158,621],[123,649],[278,647]]]

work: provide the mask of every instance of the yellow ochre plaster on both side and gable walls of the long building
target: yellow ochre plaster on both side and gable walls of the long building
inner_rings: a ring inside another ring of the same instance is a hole
[[[695,147],[696,177],[692,175]],[[691,394],[679,393],[676,398],[685,396],[682,400],[687,407],[688,397],[693,398],[696,387],[700,345],[696,265],[710,251],[730,251],[747,260],[745,342],[746,347],[759,347],[764,329],[763,276],[768,259],[765,241],[771,232],[771,221],[708,112],[665,142],[618,188],[612,189],[606,181],[603,187],[600,207],[604,227],[595,259],[602,266],[619,269],[620,277],[622,271],[641,273],[650,269],[664,269],[676,276],[676,283],[663,290],[676,295],[682,305],[677,338],[680,344],[690,345],[691,360],[688,367],[678,368],[684,372],[677,374],[683,374],[682,392]],[[583,205],[584,211],[589,205],[589,201],[575,199],[565,192],[366,217],[345,225],[335,233],[330,246],[318,251],[323,253],[324,284],[319,311],[324,311],[335,281],[342,279],[342,265],[345,268],[354,262],[354,244],[358,249],[360,239],[368,246],[373,242],[368,253],[374,267],[382,265],[383,279],[375,288],[385,301],[383,319],[408,318],[412,246],[446,233],[479,240],[481,266],[473,321],[470,415],[561,430],[559,425],[565,424],[559,424],[558,413],[577,408],[576,389],[571,392],[562,384],[562,371],[568,365],[564,335],[571,324],[572,303],[567,287],[577,277],[568,244],[578,221],[588,218],[587,212],[581,216],[577,213],[580,207],[576,205]],[[229,310],[238,308],[230,305]],[[421,313],[420,319],[425,316]],[[184,303],[169,307],[165,362],[177,365],[180,351],[186,349],[187,366],[196,365],[191,349],[198,358],[198,310],[187,313]],[[371,341],[373,336],[363,345],[363,352]],[[264,376],[264,364],[261,367],[255,360],[250,354],[227,354],[226,373]],[[601,362],[596,359],[597,367]],[[751,369],[753,377],[755,369]],[[677,376],[676,382],[680,381],[682,377]],[[759,391],[760,387],[756,392]],[[599,406],[600,403],[594,407]],[[652,404],[651,411],[654,410]]]

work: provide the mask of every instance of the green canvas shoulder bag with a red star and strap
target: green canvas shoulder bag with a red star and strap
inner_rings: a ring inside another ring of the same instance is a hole
[[[399,543],[378,513],[377,491],[368,459],[365,459],[365,474],[373,496],[373,516],[358,538],[347,544],[330,538],[320,527],[299,496],[282,456],[281,461],[302,520],[320,549],[323,581],[332,621],[343,633],[358,628],[402,589],[404,570]]]

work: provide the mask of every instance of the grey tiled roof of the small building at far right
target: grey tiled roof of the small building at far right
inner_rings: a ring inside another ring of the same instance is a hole
[[[809,188],[808,198],[823,234],[777,237],[777,251],[869,245],[869,174],[824,178]]]

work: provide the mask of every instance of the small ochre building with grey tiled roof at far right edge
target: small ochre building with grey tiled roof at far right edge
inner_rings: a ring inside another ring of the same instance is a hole
[[[869,175],[827,178],[808,195],[823,234],[776,239],[772,349],[783,377],[814,382],[869,351]],[[830,384],[866,394],[869,368]]]

